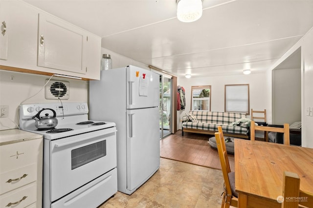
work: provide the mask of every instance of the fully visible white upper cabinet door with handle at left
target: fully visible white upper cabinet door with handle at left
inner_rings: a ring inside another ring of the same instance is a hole
[[[38,26],[38,66],[86,74],[87,32],[45,13]]]

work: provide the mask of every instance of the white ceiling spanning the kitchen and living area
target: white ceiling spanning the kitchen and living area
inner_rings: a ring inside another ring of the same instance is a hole
[[[176,0],[25,1],[177,76],[263,73],[313,27],[313,0],[203,0],[191,23],[176,18]]]

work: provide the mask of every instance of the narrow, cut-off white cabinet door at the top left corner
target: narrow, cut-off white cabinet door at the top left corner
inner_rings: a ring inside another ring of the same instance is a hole
[[[8,1],[0,1],[0,59],[7,60],[8,57]]]

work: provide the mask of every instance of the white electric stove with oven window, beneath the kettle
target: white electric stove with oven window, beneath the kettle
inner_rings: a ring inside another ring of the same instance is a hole
[[[32,119],[44,108],[56,112],[52,129]],[[44,137],[44,208],[95,208],[117,192],[115,123],[89,121],[88,112],[87,103],[20,105],[20,129]]]

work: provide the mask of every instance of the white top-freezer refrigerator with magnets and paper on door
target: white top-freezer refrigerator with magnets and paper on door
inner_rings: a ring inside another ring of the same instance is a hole
[[[89,119],[116,123],[117,189],[132,194],[159,168],[159,75],[129,65],[89,82]]]

